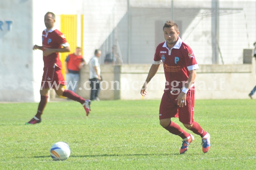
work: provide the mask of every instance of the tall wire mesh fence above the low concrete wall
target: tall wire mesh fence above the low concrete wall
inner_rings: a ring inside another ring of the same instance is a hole
[[[115,64],[151,64],[169,19],[198,64],[243,64],[256,41],[255,1],[86,0],[83,11],[84,56],[100,49],[101,64],[111,51]]]

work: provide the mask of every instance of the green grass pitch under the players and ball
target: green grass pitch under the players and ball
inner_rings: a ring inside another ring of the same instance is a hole
[[[74,101],[48,103],[42,123],[25,126],[38,103],[0,104],[1,170],[226,170],[256,168],[256,100],[196,100],[194,120],[211,135],[204,154],[195,135],[180,155],[181,138],[159,125],[160,101],[93,102],[87,118]],[[178,119],[172,119],[182,128]],[[185,129],[185,128],[183,128]],[[66,142],[71,156],[52,161]]]

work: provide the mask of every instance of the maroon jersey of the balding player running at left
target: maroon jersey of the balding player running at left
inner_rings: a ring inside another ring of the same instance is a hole
[[[52,28],[50,31],[46,32],[46,29],[42,32],[42,50],[46,50],[47,48],[61,48],[68,47],[69,44],[60,31],[55,28]],[[54,65],[58,66],[62,69],[62,63],[59,58],[58,53],[52,53],[49,56],[43,56],[44,67],[53,67]]]

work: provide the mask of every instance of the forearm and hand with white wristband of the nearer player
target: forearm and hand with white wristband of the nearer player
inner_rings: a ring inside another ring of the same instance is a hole
[[[188,91],[188,90],[189,90],[189,88],[191,87],[191,85],[194,83],[195,77],[196,77],[196,75],[197,75],[195,69],[190,70],[189,72],[190,72],[190,74],[189,74],[189,76],[188,76],[187,83],[185,84],[184,89],[182,89],[182,91],[180,92],[180,94],[179,94],[178,97],[176,98],[176,100],[178,100],[178,105],[179,105],[180,107],[183,107],[184,104],[187,105],[187,103],[186,103],[187,93],[183,92],[183,90],[185,90],[185,91]],[[184,101],[184,102],[182,102],[182,101]]]

